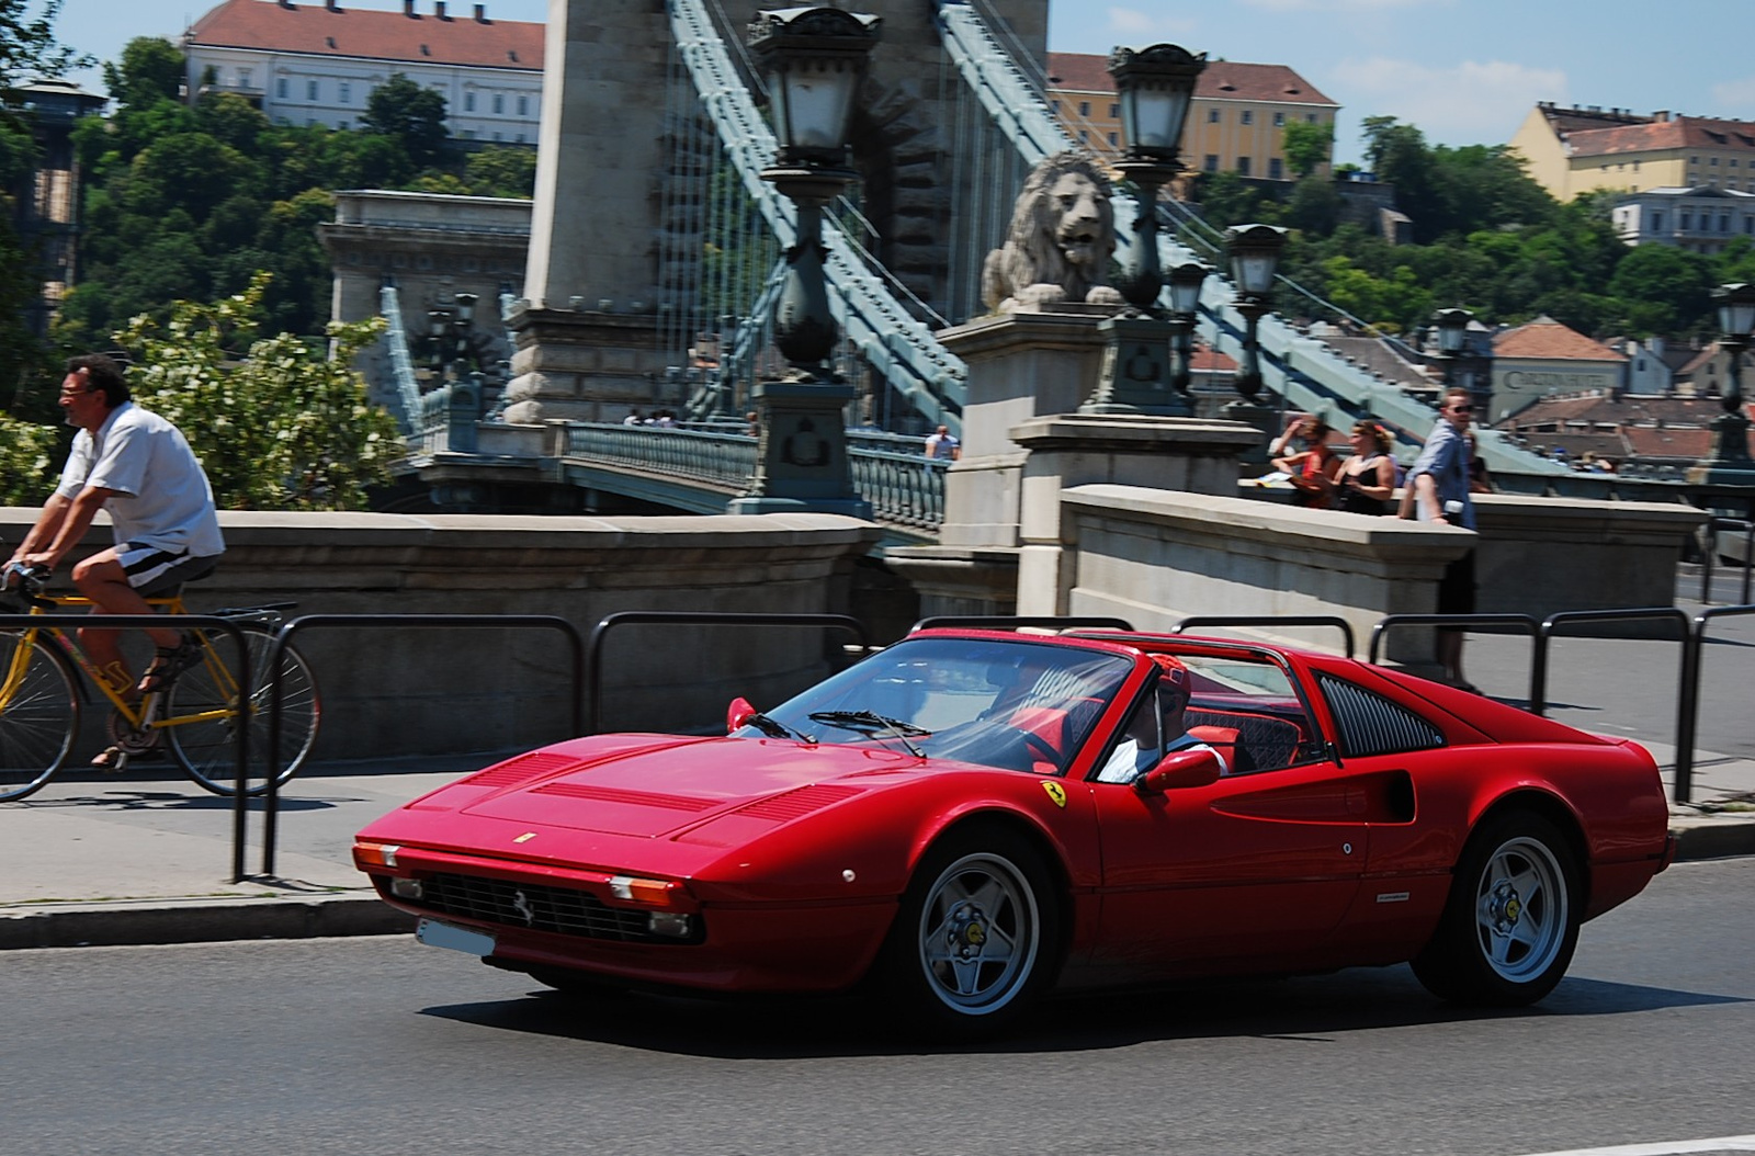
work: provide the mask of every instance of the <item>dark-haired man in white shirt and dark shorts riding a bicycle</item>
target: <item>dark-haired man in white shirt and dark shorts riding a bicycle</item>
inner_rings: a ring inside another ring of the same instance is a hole
[[[75,563],[74,586],[91,600],[93,614],[151,614],[146,598],[205,577],[225,553],[207,474],[177,426],[130,400],[123,368],[112,358],[68,360],[60,405],[67,425],[79,433],[61,484],[12,553],[7,570],[53,570],[105,509],[116,546]],[[200,647],[183,632],[146,633],[158,653],[135,684],[118,632],[79,632],[91,665],[130,700],[165,689],[200,661]],[[105,765],[104,756],[98,760]]]

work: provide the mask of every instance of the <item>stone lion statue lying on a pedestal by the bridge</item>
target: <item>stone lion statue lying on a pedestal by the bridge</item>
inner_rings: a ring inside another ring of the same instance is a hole
[[[1085,153],[1039,161],[1011,212],[1006,246],[981,267],[981,302],[999,312],[1049,302],[1120,305],[1121,295],[1107,284],[1114,254],[1109,195],[1109,177]]]

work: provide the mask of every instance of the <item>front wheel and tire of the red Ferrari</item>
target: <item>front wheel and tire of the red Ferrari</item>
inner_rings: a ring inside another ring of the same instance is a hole
[[[979,1038],[1014,1023],[1053,982],[1058,953],[1060,907],[1041,854],[1016,833],[981,828],[921,858],[879,979],[909,1026]]]

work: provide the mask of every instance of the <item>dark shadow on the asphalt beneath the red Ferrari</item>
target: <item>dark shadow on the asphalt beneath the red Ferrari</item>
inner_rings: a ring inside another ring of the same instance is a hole
[[[1258,1037],[1330,1042],[1350,1031],[1564,1016],[1615,1016],[1741,1003],[1741,996],[1565,979],[1536,1007],[1467,1009],[1430,996],[1408,967],[1279,981],[1188,984],[1044,1002],[992,1040],[921,1040],[858,998],[691,1000],[644,993],[567,995],[426,1007],[421,1014],[504,1031],[714,1060],[1078,1053],[1151,1040]]]

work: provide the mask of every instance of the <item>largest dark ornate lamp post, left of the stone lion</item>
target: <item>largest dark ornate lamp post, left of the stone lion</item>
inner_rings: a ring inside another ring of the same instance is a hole
[[[762,170],[797,209],[799,235],[786,251],[786,281],[774,303],[774,346],[792,367],[779,381],[751,389],[762,433],[749,491],[732,514],[820,510],[869,517],[853,493],[842,410],[853,389],[830,356],[841,337],[828,310],[821,240],[823,205],[855,172],[848,167],[848,125],[879,18],[841,9],[756,12],[749,49],[769,77],[779,149]]]

